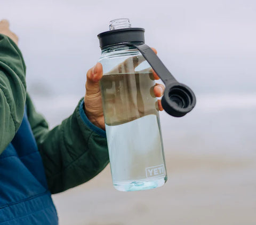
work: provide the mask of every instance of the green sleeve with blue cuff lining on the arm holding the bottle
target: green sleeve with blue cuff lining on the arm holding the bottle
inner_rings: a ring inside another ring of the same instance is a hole
[[[106,132],[87,119],[83,99],[73,115],[49,131],[27,95],[27,114],[52,194],[92,179],[109,162]]]

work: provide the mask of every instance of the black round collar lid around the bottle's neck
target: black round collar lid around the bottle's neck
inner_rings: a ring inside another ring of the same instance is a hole
[[[100,33],[98,34],[100,48],[129,42],[145,43],[144,33],[143,28],[124,28]]]

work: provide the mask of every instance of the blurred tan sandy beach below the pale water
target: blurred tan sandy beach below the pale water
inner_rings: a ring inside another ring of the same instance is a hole
[[[96,178],[54,195],[60,224],[256,224],[256,158],[166,157],[160,188],[120,192],[109,166]]]

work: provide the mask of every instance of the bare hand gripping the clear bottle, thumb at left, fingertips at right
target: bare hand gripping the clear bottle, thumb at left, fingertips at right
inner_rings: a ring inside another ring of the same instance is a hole
[[[155,53],[157,53],[157,51],[155,49],[153,49],[153,51]],[[129,58],[128,60],[131,60],[131,59]],[[145,60],[144,58],[137,59],[137,61],[134,62],[134,68],[137,67],[144,60]],[[125,63],[126,63],[126,61],[124,61],[123,63],[121,63],[118,66],[125,67]],[[117,68],[118,68],[118,66],[117,66]],[[114,70],[117,68],[114,68],[113,71],[111,71],[111,73],[113,72],[115,74]],[[156,79],[156,80],[159,79],[159,77],[157,76],[157,74],[155,73],[154,70],[153,70],[152,74],[154,76],[154,79]],[[85,108],[85,114],[86,114],[87,118],[89,118],[89,120],[94,125],[105,130],[102,99],[101,99],[101,92],[100,92],[100,85],[99,85],[102,75],[103,75],[103,69],[102,69],[101,63],[99,63],[99,62],[94,67],[92,67],[91,69],[89,69],[87,71],[87,75],[86,75],[87,80],[86,80],[86,84],[85,84],[86,93],[85,93],[85,97],[84,97],[84,108]],[[163,84],[155,84],[154,89],[153,89],[155,97],[162,97],[162,95],[164,93],[164,89],[165,89],[165,87]],[[158,109],[160,111],[163,110],[161,100],[158,100]]]

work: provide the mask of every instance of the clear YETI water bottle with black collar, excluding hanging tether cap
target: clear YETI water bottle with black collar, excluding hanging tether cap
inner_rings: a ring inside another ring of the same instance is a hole
[[[147,46],[145,30],[131,28],[128,19],[113,20],[109,27],[110,31],[98,37],[103,67],[100,88],[113,184],[121,191],[160,187],[167,174],[153,69],[140,49]],[[175,98],[174,107],[180,105]]]

